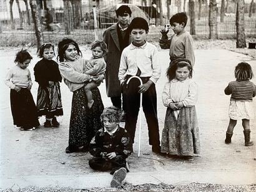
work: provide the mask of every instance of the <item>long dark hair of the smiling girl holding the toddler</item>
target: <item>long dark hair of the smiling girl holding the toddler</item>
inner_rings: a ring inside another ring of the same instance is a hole
[[[64,54],[65,54],[65,51],[67,50],[67,47],[69,47],[69,45],[75,46],[77,50],[77,55],[79,56],[79,58],[82,57],[82,52],[79,49],[77,42],[69,38],[64,38],[59,42],[58,49],[57,49],[57,52],[58,52],[57,60],[59,60],[60,62],[64,61],[65,59]]]

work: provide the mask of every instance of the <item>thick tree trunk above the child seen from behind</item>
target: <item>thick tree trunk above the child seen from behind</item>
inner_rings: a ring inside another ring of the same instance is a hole
[[[246,47],[244,6],[244,0],[237,0],[237,15],[235,17],[235,25],[237,27],[237,48]]]

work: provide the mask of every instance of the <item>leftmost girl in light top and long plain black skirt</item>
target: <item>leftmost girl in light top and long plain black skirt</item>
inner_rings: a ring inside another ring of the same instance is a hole
[[[6,75],[5,83],[11,89],[11,112],[13,123],[20,130],[33,130],[39,126],[37,108],[31,95],[32,80],[29,69],[31,55],[27,50],[20,50],[14,62],[17,64]]]

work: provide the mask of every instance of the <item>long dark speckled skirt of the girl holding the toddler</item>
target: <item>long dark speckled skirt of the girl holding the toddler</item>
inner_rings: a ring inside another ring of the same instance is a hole
[[[69,124],[69,146],[89,146],[97,130],[102,128],[101,113],[104,105],[98,88],[92,89],[94,103],[87,108],[87,97],[83,88],[73,92],[71,119]]]

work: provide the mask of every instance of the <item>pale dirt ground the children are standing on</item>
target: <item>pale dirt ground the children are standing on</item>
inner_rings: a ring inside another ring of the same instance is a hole
[[[202,46],[204,46],[204,42]],[[32,132],[21,132],[12,125],[9,89],[3,79],[13,66],[17,48],[0,49],[1,102],[1,158],[0,189],[5,191],[115,191],[109,188],[111,175],[91,170],[89,153],[66,154],[72,93],[61,84],[64,115],[59,117],[61,127],[41,127]],[[29,69],[37,62],[36,49],[29,49],[34,57]],[[89,50],[83,49],[84,57]],[[251,51],[251,50],[250,50]],[[241,51],[240,51],[241,52]],[[165,69],[169,65],[168,50],[159,50],[162,75],[157,82],[157,106],[160,133],[164,125],[166,108],[161,93],[166,82]],[[196,49],[194,79],[199,85],[197,115],[200,129],[201,153],[195,160],[167,158],[152,153],[148,144],[147,125],[142,118],[141,156],[137,157],[138,141],[129,158],[130,172],[121,191],[256,191],[256,120],[251,120],[254,146],[244,146],[241,122],[235,127],[231,145],[225,145],[225,131],[229,123],[227,115],[229,96],[224,94],[227,84],[234,80],[234,67],[240,61],[249,62],[256,71],[255,50],[249,55],[230,50]],[[256,75],[256,72],[255,72]],[[33,75],[32,75],[32,78]],[[252,82],[256,84],[255,78]],[[106,97],[105,84],[101,84],[104,106],[111,105]],[[37,84],[32,95],[36,100]],[[256,102],[254,102],[256,108]],[[255,112],[256,114],[256,112]],[[138,123],[139,124],[139,123]],[[122,124],[123,125],[123,124]],[[135,136],[138,138],[138,131]],[[210,183],[210,184],[209,184]],[[34,187],[31,187],[34,186]],[[9,190],[7,190],[9,188]],[[11,190],[10,190],[11,188]],[[23,189],[23,190],[21,190]],[[61,190],[60,190],[61,189]],[[79,190],[78,190],[79,189]],[[84,190],[82,190],[84,189]]]

